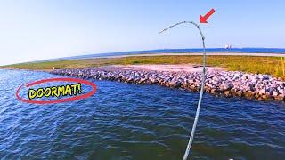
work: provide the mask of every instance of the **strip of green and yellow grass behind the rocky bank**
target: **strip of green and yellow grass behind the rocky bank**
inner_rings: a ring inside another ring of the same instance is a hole
[[[55,68],[90,68],[105,65],[127,64],[201,64],[201,56],[191,55],[158,55],[158,56],[134,56],[120,58],[100,58],[86,60],[59,60],[45,62],[30,62],[3,66],[0,68],[18,68],[50,70]],[[285,79],[285,61],[280,57],[258,56],[208,56],[209,66],[224,67],[229,70],[239,70],[250,73],[270,74]]]

